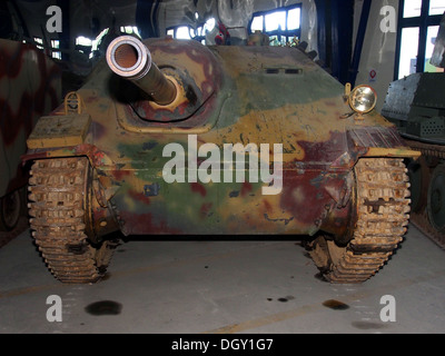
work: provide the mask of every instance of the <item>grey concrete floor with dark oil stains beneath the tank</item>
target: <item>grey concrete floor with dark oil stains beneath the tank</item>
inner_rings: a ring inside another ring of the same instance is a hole
[[[445,333],[445,251],[411,227],[377,276],[329,285],[299,241],[121,245],[106,280],[62,285],[29,230],[0,249],[0,333]],[[47,320],[47,298],[62,322]],[[383,296],[396,322],[382,322]]]

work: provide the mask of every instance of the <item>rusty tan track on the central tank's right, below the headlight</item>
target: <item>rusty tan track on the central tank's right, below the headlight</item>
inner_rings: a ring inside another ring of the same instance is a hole
[[[309,254],[324,278],[357,284],[373,277],[403,240],[409,219],[409,184],[400,159],[360,159],[355,168],[357,222],[347,246],[320,236]]]

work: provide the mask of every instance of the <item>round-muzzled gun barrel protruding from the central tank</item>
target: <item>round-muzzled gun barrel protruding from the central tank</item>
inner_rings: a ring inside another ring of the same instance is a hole
[[[148,48],[137,38],[115,39],[108,46],[107,62],[116,75],[131,80],[156,103],[167,106],[175,100],[176,86],[159,70]]]

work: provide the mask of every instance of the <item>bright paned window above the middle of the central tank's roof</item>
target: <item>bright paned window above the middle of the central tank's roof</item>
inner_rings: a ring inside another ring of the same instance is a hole
[[[301,37],[301,6],[256,12],[249,23],[250,33],[261,31],[269,36],[270,44],[285,46]]]

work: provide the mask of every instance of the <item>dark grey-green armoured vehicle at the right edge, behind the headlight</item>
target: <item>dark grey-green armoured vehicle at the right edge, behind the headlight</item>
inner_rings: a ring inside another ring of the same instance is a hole
[[[432,65],[445,68],[445,17]],[[415,73],[390,83],[382,113],[422,152],[408,164],[412,222],[445,248],[445,73]]]

